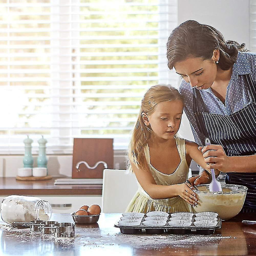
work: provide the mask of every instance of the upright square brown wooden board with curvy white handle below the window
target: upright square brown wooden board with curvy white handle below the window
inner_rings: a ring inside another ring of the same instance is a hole
[[[76,165],[80,161],[85,161],[93,167],[98,161],[107,163],[108,169],[114,166],[113,139],[105,138],[74,138],[72,179],[90,178],[102,179],[104,165],[101,163],[95,169],[89,169],[84,164],[80,164],[79,172]]]

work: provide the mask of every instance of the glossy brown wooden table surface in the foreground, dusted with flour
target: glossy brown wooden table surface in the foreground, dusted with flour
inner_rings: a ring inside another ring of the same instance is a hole
[[[98,223],[76,225],[75,238],[54,239],[11,229],[0,222],[0,255],[255,255],[256,225],[245,226],[243,214],[228,221],[213,235],[124,235],[114,223],[121,214],[101,214]],[[53,214],[51,220],[73,222],[69,214]]]

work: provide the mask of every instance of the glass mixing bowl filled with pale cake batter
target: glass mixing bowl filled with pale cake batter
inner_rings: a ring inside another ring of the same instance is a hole
[[[242,209],[247,193],[247,187],[240,185],[222,184],[222,192],[210,192],[209,185],[199,185],[198,205],[193,207],[195,212],[218,212],[222,220],[236,216]]]

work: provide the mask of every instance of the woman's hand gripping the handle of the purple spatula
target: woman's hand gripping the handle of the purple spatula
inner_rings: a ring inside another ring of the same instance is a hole
[[[228,157],[221,145],[208,145],[198,149],[202,152],[205,163],[210,169],[219,169],[222,172],[230,170],[230,157]]]

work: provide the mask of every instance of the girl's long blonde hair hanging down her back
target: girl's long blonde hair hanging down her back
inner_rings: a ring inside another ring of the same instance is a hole
[[[147,90],[141,101],[140,113],[132,132],[128,150],[129,161],[130,163],[134,163],[137,168],[149,170],[149,165],[144,154],[144,147],[151,138],[152,129],[150,125],[146,126],[143,122],[142,113],[145,112],[151,115],[155,111],[158,103],[170,100],[181,100],[183,102],[182,95],[177,89],[170,85],[157,84]]]

